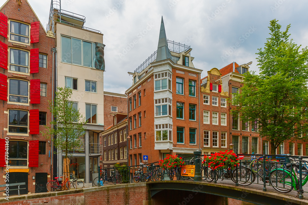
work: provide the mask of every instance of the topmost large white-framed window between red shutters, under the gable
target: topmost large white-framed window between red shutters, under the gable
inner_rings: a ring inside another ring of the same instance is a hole
[[[10,21],[10,40],[29,43],[29,25]]]

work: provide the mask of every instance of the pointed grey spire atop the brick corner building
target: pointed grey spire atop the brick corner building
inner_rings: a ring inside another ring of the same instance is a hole
[[[165,60],[168,58],[171,59],[175,63],[177,62],[177,60],[175,59],[176,57],[172,56],[170,50],[168,49],[164,20],[163,20],[163,16],[161,16],[156,61],[161,61],[161,60]]]

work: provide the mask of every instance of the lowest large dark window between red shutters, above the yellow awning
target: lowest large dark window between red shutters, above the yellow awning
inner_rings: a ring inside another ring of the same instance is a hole
[[[28,142],[9,141],[9,165],[27,166]]]

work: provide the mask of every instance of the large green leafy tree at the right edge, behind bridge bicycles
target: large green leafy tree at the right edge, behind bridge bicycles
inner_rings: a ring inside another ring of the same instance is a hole
[[[270,37],[256,53],[260,73],[245,73],[244,86],[232,99],[243,122],[257,121],[271,154],[286,140],[307,139],[308,51],[289,39],[289,28],[280,31],[278,21],[270,21]]]

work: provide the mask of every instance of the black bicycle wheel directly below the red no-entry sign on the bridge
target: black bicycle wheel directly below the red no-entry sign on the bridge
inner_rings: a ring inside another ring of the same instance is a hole
[[[237,176],[236,176],[236,171],[237,171]],[[239,185],[248,186],[254,182],[256,176],[249,168],[238,167],[237,169],[234,169],[232,173],[232,179],[233,179],[232,181],[235,183],[236,183],[236,178],[237,178],[237,183]]]

